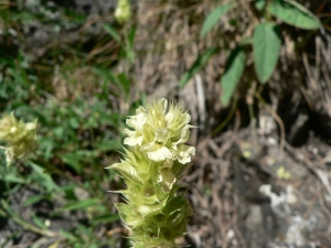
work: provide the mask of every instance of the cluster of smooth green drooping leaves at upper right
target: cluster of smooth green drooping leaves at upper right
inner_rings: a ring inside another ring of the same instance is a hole
[[[307,8],[293,0],[254,0],[252,4],[242,1],[224,1],[206,17],[200,37],[205,37],[220,19],[235,9],[245,8],[250,13],[249,26],[245,34],[239,33],[239,41],[229,51],[224,73],[221,78],[221,101],[227,105],[233,97],[245,72],[246,57],[253,55],[256,80],[266,84],[273,76],[281,48],[282,23],[298,29],[316,31],[321,28],[320,20]],[[239,12],[238,12],[239,13]],[[239,18],[238,18],[239,19]],[[217,52],[218,47],[209,47],[183,75],[180,86],[188,80]],[[254,80],[254,78],[252,78]]]

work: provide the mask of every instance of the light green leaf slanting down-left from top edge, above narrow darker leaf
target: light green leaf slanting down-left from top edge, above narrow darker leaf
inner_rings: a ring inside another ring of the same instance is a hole
[[[216,9],[214,9],[205,19],[205,21],[203,22],[202,25],[202,30],[200,33],[200,37],[203,37],[204,35],[207,34],[207,32],[210,32],[214,25],[216,25],[217,21],[220,20],[220,18],[225,14],[227,11],[229,11],[231,9],[233,9],[235,7],[234,3],[227,3],[224,6],[220,6]]]

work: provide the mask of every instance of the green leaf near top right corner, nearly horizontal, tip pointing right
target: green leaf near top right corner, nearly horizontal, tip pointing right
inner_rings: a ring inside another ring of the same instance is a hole
[[[284,22],[300,29],[316,30],[321,25],[313,13],[296,1],[273,0],[267,10]]]

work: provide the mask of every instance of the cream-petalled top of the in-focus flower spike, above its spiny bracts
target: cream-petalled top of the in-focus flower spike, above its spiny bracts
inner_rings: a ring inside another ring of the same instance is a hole
[[[191,117],[188,112],[161,99],[145,109],[140,107],[136,115],[129,117],[125,129],[125,144],[139,145],[148,158],[156,162],[178,160],[188,163],[195,153],[195,148],[183,144],[190,137],[189,125]],[[134,130],[132,130],[134,129]]]

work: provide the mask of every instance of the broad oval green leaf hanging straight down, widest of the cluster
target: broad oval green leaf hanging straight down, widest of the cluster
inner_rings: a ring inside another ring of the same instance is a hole
[[[253,35],[255,71],[260,83],[271,77],[278,62],[281,41],[274,23],[259,23]]]

